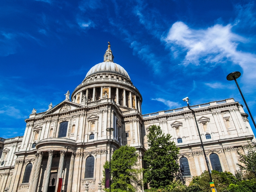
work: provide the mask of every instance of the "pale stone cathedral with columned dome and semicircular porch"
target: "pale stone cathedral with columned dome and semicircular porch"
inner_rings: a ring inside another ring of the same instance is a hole
[[[0,139],[0,192],[98,191],[103,164],[120,146],[130,145],[144,167],[148,127],[160,125],[180,148],[184,180],[200,175],[207,166],[200,145],[203,138],[212,170],[235,173],[238,155],[247,140],[255,141],[248,115],[234,99],[142,115],[142,96],[123,67],[114,63],[110,44],[104,62],[93,66],[73,93],[45,112],[34,109],[25,119],[24,136]],[[109,150],[109,132],[112,149]],[[67,151],[67,146],[69,146]],[[145,186],[147,188],[147,186]]]

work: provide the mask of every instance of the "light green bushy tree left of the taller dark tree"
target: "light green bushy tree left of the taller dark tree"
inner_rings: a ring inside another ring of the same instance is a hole
[[[141,188],[140,174],[142,170],[136,168],[137,162],[138,154],[134,147],[126,145],[115,150],[111,158],[111,191],[134,192],[136,188]],[[109,162],[107,161],[103,167],[109,168]],[[105,177],[105,171],[103,171],[103,176]],[[103,180],[105,181],[105,179]]]

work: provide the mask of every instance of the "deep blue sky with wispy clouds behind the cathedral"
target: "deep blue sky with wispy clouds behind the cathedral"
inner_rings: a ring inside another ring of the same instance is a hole
[[[143,97],[143,114],[185,106],[187,96],[192,105],[231,97],[244,105],[226,80],[240,71],[256,119],[255,4],[2,0],[0,137],[23,135],[33,108],[64,100],[103,61],[108,41]]]

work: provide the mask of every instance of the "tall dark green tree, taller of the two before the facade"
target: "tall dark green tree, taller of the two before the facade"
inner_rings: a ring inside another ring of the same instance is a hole
[[[144,180],[152,188],[169,185],[179,170],[179,148],[171,141],[171,135],[162,133],[160,126],[152,125],[148,133],[148,150],[143,160],[148,164]]]

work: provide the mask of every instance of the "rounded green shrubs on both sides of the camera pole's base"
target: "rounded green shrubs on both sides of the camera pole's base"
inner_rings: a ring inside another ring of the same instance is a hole
[[[212,171],[212,180],[218,192],[223,191],[229,184],[236,183],[236,177],[230,172]],[[210,191],[210,176],[208,171],[204,171],[200,176],[193,177],[190,185],[198,184],[206,191]]]

